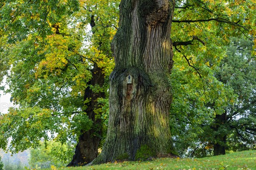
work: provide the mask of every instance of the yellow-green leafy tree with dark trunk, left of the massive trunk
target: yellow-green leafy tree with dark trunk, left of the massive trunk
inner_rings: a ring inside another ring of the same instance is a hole
[[[73,12],[67,11],[73,8]],[[6,148],[10,136],[12,152],[36,147],[41,138],[66,142],[75,137],[79,144],[70,166],[90,162],[98,155],[107,119],[105,80],[113,67],[109,42],[116,28],[109,23],[115,23],[116,9],[115,1],[99,6],[93,1],[3,3],[1,16],[6,20],[15,10],[29,15],[18,16],[17,12],[12,23],[2,23],[6,28],[3,35],[14,34],[9,37],[13,41],[3,46],[8,47],[4,60],[13,65],[7,92],[20,108],[1,119],[5,134],[1,147]],[[41,26],[38,20],[43,19]],[[23,20],[24,24],[13,26]]]

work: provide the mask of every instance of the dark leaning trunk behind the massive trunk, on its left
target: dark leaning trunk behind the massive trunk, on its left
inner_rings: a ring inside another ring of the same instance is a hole
[[[104,85],[104,80],[105,78],[102,73],[102,68],[98,68],[97,65],[94,65],[92,70],[92,79],[88,84],[99,85],[102,87]],[[67,165],[68,167],[88,164],[98,156],[98,147],[102,135],[102,119],[96,119],[96,113],[94,113],[93,110],[98,107],[96,100],[100,97],[105,97],[105,93],[93,93],[89,87],[84,92],[84,100],[90,99],[85,112],[89,119],[93,121],[93,125],[92,129],[82,133],[79,137],[75,155],[73,156],[72,161]]]

